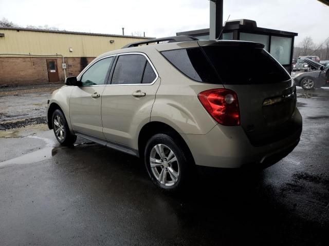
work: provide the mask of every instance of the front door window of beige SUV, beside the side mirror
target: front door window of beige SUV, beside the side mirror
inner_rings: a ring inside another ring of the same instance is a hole
[[[92,67],[82,75],[81,82],[83,86],[104,85],[104,80],[109,66],[114,57],[108,57],[97,61]]]

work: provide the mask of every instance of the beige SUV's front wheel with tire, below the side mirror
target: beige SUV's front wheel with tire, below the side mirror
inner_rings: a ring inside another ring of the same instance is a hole
[[[63,146],[73,145],[77,136],[71,134],[63,112],[59,109],[52,113],[52,128],[57,141]]]

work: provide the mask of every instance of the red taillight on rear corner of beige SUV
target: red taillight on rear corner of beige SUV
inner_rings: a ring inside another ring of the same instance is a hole
[[[211,89],[200,92],[197,97],[218,123],[224,126],[240,125],[239,101],[234,91]]]

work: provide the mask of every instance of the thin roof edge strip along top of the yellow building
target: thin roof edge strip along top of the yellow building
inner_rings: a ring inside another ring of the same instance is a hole
[[[92,33],[92,32],[72,32],[72,31],[45,30],[45,29],[23,28],[23,27],[0,27],[0,30],[16,30],[16,31],[29,31],[29,32],[50,32],[50,33],[77,34],[77,35],[90,35],[90,36],[105,36],[105,37],[131,37],[131,38],[140,38],[140,39],[154,39],[155,38],[155,37],[104,34],[104,33]]]

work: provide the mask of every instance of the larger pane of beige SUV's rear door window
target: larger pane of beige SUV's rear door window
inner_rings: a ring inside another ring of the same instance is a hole
[[[140,84],[146,62],[143,55],[120,55],[113,72],[112,84]]]

